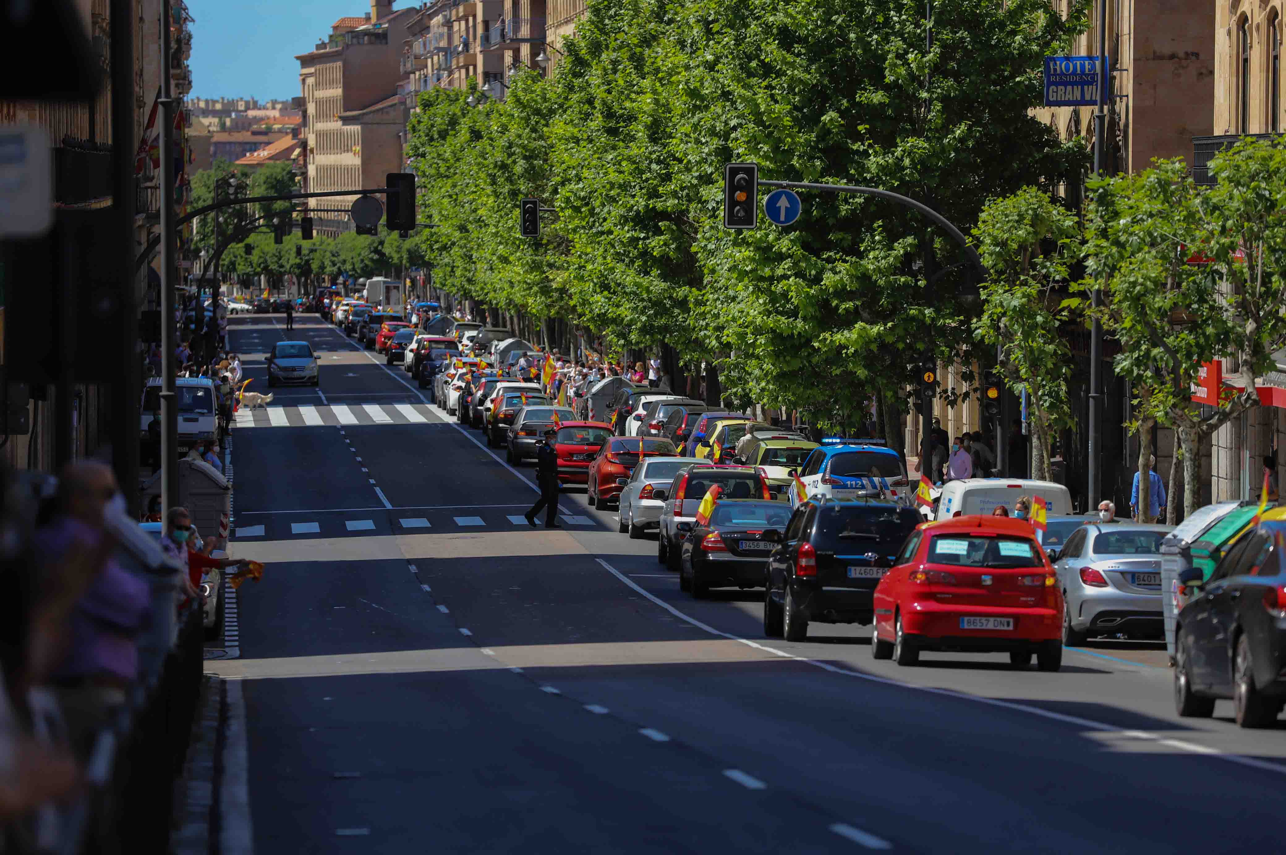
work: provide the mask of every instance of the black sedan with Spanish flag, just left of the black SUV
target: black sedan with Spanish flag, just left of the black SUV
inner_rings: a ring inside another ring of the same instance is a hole
[[[763,588],[790,516],[781,501],[727,499],[706,525],[680,522],[679,589],[702,599],[711,588]]]

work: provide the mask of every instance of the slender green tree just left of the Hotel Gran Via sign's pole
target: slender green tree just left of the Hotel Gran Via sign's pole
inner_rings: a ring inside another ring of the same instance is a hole
[[[1001,350],[1001,370],[1010,388],[1025,388],[1031,400],[1031,477],[1049,480],[1055,431],[1071,427],[1067,378],[1071,348],[1061,332],[1074,320],[1079,298],[1067,297],[1071,266],[1080,260],[1076,215],[1044,192],[1026,186],[983,208],[979,256],[986,267],[983,316],[974,332]]]

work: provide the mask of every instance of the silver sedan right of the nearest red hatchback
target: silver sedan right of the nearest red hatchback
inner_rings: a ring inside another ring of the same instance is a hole
[[[1124,634],[1163,639],[1161,539],[1173,526],[1089,523],[1053,555],[1065,611],[1062,643]]]

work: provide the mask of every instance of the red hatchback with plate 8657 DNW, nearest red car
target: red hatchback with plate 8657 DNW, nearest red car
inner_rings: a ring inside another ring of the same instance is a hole
[[[1015,667],[1062,665],[1062,594],[1031,523],[955,517],[919,526],[876,586],[872,656],[1008,652]]]

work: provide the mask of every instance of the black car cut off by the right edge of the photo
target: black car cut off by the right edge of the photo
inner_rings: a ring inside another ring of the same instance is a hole
[[[1286,705],[1283,535],[1286,522],[1262,522],[1224,554],[1209,580],[1202,581],[1199,567],[1179,573],[1179,593],[1192,597],[1174,629],[1174,706],[1181,716],[1210,717],[1217,698],[1232,698],[1238,725],[1268,728]]]

